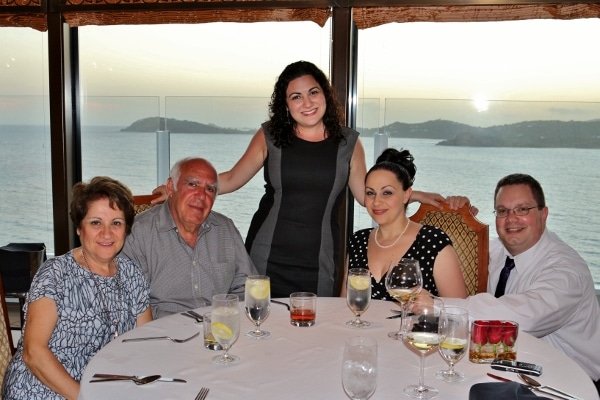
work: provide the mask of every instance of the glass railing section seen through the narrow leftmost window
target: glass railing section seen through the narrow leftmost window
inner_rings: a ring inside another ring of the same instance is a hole
[[[54,252],[50,128],[45,96],[0,95],[0,246]]]

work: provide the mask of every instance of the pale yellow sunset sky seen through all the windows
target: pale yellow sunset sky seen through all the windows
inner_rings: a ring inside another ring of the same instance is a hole
[[[109,125],[160,114],[257,127],[268,117],[281,70],[300,59],[326,70],[330,43],[329,26],[311,22],[90,26],[79,36],[83,118]],[[361,30],[357,125],[433,116],[485,126],[518,122],[524,113],[600,118],[594,37],[600,37],[598,19]],[[24,102],[47,107],[36,98],[47,94],[45,40],[46,34],[26,28],[0,29],[0,124],[31,122]],[[399,99],[417,100],[407,107]]]

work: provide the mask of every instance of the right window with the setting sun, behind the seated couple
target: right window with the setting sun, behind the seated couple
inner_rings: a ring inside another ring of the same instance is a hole
[[[370,136],[389,135],[389,146],[415,156],[416,189],[468,196],[491,236],[496,182],[514,172],[532,175],[545,190],[548,228],[583,256],[600,282],[600,216],[589,211],[600,194],[600,57],[584,40],[598,34],[597,19],[403,23],[360,31],[358,95],[365,102],[357,126],[367,164],[374,163]],[[474,139],[481,135],[466,134],[477,130],[504,144],[480,147]],[[466,145],[438,145],[457,135]],[[532,135],[560,148],[526,147]],[[360,211],[357,229],[370,224]]]

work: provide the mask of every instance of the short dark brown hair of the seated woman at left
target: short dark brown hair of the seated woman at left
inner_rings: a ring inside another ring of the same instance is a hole
[[[97,176],[90,183],[79,182],[73,186],[71,200],[71,220],[77,228],[88,213],[90,203],[100,199],[108,199],[108,205],[125,214],[125,233],[131,233],[135,218],[133,193],[121,182],[107,176]]]

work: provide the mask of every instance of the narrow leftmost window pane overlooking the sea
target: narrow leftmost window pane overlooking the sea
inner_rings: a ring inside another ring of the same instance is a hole
[[[0,245],[54,253],[47,35],[0,28]]]

